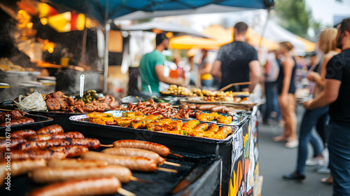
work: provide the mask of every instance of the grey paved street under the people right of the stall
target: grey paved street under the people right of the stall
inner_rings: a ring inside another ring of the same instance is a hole
[[[298,124],[304,109],[297,107]],[[299,130],[299,125],[297,126]],[[259,125],[259,159],[260,176],[264,177],[262,184],[262,196],[326,196],[332,195],[332,186],[324,185],[321,178],[328,174],[317,174],[313,172],[315,167],[307,167],[307,179],[303,183],[285,181],[281,178],[283,174],[289,174],[295,170],[297,160],[297,148],[285,148],[283,143],[272,141],[272,137],[283,132],[283,128],[274,125]],[[309,152],[311,146],[309,146]],[[309,153],[311,156],[311,153]]]

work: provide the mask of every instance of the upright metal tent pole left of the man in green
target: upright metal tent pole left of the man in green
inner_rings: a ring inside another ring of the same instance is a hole
[[[105,0],[104,9],[104,93],[107,90],[107,78],[109,76],[109,30],[111,29],[111,20],[109,20],[109,0]]]

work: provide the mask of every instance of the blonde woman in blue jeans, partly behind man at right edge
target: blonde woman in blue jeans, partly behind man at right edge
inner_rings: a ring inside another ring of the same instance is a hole
[[[337,49],[335,38],[337,37],[337,29],[325,29],[321,32],[318,40],[319,49],[325,54],[321,66],[319,66],[319,73],[311,71],[307,78],[315,82],[314,97],[317,97],[325,86],[325,69],[328,61],[339,53]],[[311,68],[312,69],[312,68]],[[316,125],[317,121],[321,116],[328,113],[328,106],[318,108],[314,110],[307,110],[302,118],[300,125],[300,137],[299,137],[299,148],[297,151],[297,169],[295,172],[289,175],[284,175],[283,179],[302,181],[305,179],[305,166],[312,165],[312,162],[324,162],[322,155],[323,148],[321,142],[317,137],[312,134],[312,128]],[[311,160],[307,160],[308,144],[309,141],[314,148],[314,156]],[[329,179],[331,180],[331,179]]]

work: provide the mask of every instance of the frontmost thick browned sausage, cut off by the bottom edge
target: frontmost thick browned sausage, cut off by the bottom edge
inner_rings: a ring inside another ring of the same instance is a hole
[[[116,177],[74,180],[38,188],[29,196],[108,195],[117,193],[121,186]]]

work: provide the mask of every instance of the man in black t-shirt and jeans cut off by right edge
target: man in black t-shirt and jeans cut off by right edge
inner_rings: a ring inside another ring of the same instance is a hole
[[[329,107],[328,150],[333,195],[350,195],[350,18],[338,27],[337,47],[342,49],[327,64],[325,89],[306,109]]]

